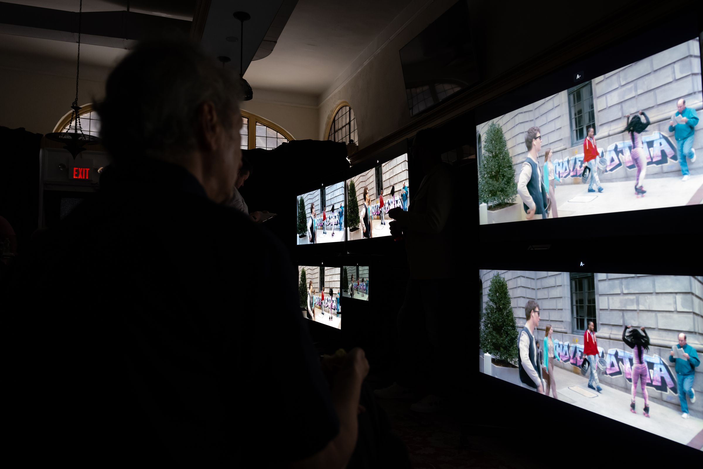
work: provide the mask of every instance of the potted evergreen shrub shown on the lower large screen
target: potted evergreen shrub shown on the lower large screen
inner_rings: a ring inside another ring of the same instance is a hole
[[[517,325],[512,316],[508,283],[495,274],[488,290],[488,302],[480,335],[481,349],[491,354],[496,378],[519,384],[517,370]]]

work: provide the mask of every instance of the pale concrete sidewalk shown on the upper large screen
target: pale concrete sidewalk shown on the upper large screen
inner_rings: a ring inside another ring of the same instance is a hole
[[[680,175],[645,179],[647,193],[643,198],[635,195],[634,177],[627,181],[601,181],[601,186],[603,192],[598,193],[595,185],[596,192],[588,192],[588,184],[557,183],[559,217],[687,205],[703,186],[703,174],[692,175],[688,181],[681,181]]]

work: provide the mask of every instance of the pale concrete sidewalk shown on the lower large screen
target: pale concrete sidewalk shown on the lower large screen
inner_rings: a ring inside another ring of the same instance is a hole
[[[601,385],[602,392],[598,393],[588,387],[588,375],[584,377],[558,366],[554,367],[554,373],[560,401],[681,444],[689,444],[700,432],[703,432],[703,419],[681,418],[681,412],[656,404],[653,400],[650,400],[650,418],[643,416],[645,400],[639,386],[635,400],[637,413],[634,414],[630,411],[631,394],[629,392]],[[600,374],[598,378],[600,379]],[[569,389],[570,387],[575,387],[576,390]],[[703,449],[703,447],[697,447],[697,449]]]

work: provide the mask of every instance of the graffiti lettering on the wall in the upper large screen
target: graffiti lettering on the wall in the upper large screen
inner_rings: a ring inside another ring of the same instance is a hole
[[[678,161],[676,145],[661,132],[654,132],[642,137],[647,151],[647,165],[668,165]],[[605,157],[607,167],[602,172],[614,172],[621,167],[635,169],[631,155],[632,142],[629,140],[611,143],[607,149],[598,148],[600,157]],[[581,177],[583,172],[583,153],[563,160],[554,160],[554,172],[560,177]]]

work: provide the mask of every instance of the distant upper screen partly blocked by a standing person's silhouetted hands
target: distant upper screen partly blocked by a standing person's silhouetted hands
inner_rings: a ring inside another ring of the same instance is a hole
[[[347,210],[344,226],[347,239],[390,236],[388,212],[408,210],[410,186],[408,154],[404,153],[347,180]]]

